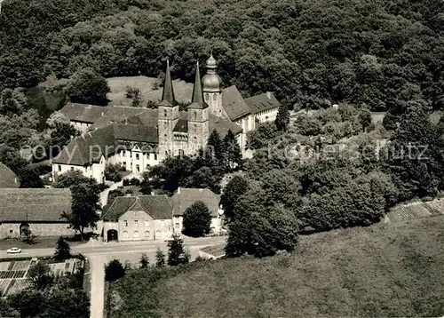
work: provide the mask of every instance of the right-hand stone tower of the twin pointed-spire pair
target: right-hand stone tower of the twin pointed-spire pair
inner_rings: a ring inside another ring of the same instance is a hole
[[[195,154],[199,148],[206,147],[209,137],[208,104],[203,100],[199,62],[196,64],[193,99],[188,110],[188,149]]]

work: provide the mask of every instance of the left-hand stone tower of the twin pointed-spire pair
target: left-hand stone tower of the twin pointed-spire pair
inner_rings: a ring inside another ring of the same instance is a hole
[[[178,123],[178,102],[174,98],[170,75],[170,62],[167,60],[165,82],[163,83],[162,101],[158,106],[159,160],[173,155],[173,129]]]

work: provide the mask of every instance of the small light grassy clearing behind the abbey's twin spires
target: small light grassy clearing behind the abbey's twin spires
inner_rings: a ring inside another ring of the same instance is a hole
[[[126,98],[126,88],[139,88],[142,95],[142,105],[147,106],[148,100],[158,101],[162,99],[163,88],[154,89],[154,84],[159,80],[147,76],[110,77],[107,79],[111,92],[107,94],[112,106],[131,106],[131,99]],[[178,101],[190,101],[193,94],[193,84],[184,81],[173,81],[174,94]]]

